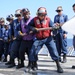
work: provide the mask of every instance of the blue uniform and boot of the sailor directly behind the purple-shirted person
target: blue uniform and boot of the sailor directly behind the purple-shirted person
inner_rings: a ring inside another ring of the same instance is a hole
[[[11,58],[11,64],[8,66],[8,68],[14,67],[14,59],[19,58],[19,47],[21,44],[21,37],[18,35],[18,26],[20,25],[20,22],[18,19],[13,21],[13,43],[11,45],[10,49],[10,58]]]

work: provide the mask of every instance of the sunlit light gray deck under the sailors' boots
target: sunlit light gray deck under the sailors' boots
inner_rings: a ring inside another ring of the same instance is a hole
[[[75,65],[75,57],[67,57],[67,63],[60,63],[64,69],[64,73],[56,72],[56,66],[49,56],[39,55],[38,71],[36,73],[25,73],[25,68],[16,69],[7,68],[4,62],[0,62],[0,75],[75,75],[75,69],[71,69]],[[27,65],[27,59],[25,65]]]

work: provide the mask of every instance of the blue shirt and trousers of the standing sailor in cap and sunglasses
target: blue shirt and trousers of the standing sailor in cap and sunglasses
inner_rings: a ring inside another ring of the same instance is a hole
[[[56,15],[54,17],[54,23],[59,23],[62,24],[64,22],[66,22],[68,20],[68,16],[62,14],[61,16]],[[67,38],[64,38],[63,34],[67,34],[66,31],[64,31],[61,27],[58,30],[54,31],[54,37],[55,37],[55,41],[56,41],[56,47],[58,50],[58,54],[59,56],[61,56],[61,52],[63,54],[67,54]]]

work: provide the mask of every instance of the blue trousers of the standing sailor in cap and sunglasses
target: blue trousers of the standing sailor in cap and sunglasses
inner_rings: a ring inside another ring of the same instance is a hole
[[[55,36],[55,41],[59,56],[61,56],[61,53],[67,54],[67,38],[64,38],[63,33],[58,33]]]

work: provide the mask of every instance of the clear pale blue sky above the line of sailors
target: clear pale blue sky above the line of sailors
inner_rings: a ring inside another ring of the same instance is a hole
[[[74,16],[72,5],[75,0],[0,0],[0,17],[6,18],[9,14],[15,14],[15,10],[28,8],[31,16],[36,16],[39,7],[47,9],[48,16],[54,21],[54,16],[57,14],[55,10],[58,6],[63,7],[63,13],[68,15],[70,19]],[[68,38],[72,38],[72,34],[68,33]]]

